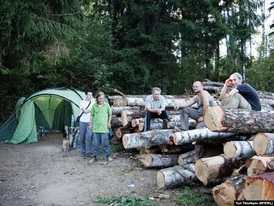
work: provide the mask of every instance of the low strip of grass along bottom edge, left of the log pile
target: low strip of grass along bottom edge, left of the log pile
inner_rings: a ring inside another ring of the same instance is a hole
[[[113,204],[114,206],[156,206],[155,203],[147,203],[147,199],[147,196],[142,196],[140,198],[136,198],[134,196],[112,196],[110,198],[97,198],[95,203],[100,205]]]

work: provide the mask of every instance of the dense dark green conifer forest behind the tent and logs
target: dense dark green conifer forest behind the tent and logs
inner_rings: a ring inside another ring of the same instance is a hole
[[[1,1],[0,124],[17,97],[49,87],[182,94],[195,80],[239,72],[274,92],[271,10],[264,0]]]

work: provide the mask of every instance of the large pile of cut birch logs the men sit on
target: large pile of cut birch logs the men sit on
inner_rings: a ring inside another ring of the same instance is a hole
[[[203,86],[219,102],[223,84],[203,82]],[[146,168],[161,168],[156,175],[159,188],[201,181],[214,186],[217,205],[274,200],[274,94],[258,93],[262,111],[208,107],[204,124],[189,119],[188,131],[174,129],[179,126],[179,111],[173,108],[191,97],[166,95],[168,129],[162,130],[162,119],[153,119],[147,132],[143,131],[146,95],[111,96],[112,127],[126,149],[140,150],[139,160]]]

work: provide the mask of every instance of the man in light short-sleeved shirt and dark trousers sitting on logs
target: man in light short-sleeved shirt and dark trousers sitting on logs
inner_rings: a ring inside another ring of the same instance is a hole
[[[169,116],[166,113],[166,100],[160,93],[162,90],[158,87],[152,89],[152,94],[145,98],[145,108],[147,109],[146,131],[150,130],[150,120],[154,118],[163,119],[163,129],[166,129]]]

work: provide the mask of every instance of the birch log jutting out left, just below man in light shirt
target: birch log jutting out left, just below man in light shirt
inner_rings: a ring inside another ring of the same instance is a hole
[[[123,145],[126,149],[142,148],[160,144],[169,144],[174,130],[149,130],[144,133],[123,135]]]

